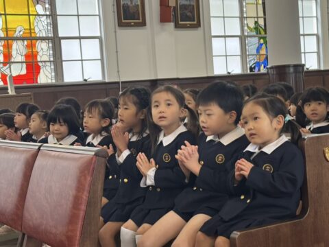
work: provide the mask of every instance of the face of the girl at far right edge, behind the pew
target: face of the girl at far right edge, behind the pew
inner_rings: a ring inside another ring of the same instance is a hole
[[[313,124],[318,124],[326,119],[328,106],[325,102],[311,101],[304,104],[304,113]]]

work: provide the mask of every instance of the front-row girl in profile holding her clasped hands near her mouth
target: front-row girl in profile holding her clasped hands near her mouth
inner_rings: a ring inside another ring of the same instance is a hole
[[[119,96],[119,124],[111,132],[117,145],[121,183],[117,194],[101,210],[101,225],[105,223],[99,231],[101,246],[115,246],[115,235],[144,201],[146,190],[140,186],[143,176],[136,167],[136,155],[149,152],[149,95],[148,89],[138,86],[125,89]]]

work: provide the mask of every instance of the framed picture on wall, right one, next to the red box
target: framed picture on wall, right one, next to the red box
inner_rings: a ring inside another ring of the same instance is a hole
[[[200,27],[199,0],[176,0],[175,27]]]

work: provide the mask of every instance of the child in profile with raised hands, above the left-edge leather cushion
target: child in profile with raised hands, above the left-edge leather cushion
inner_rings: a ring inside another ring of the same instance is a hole
[[[10,141],[32,141],[32,134],[29,133],[29,119],[37,110],[39,107],[35,104],[22,103],[17,106],[14,123],[19,132],[16,134],[12,130],[7,130],[5,132],[7,139]]]

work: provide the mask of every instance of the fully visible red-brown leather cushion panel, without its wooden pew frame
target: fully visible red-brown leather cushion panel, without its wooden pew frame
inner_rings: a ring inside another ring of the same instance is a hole
[[[96,159],[40,150],[27,191],[23,233],[52,247],[79,246]]]

